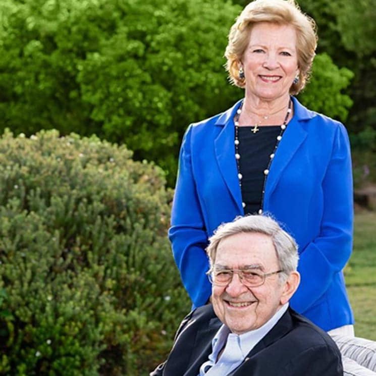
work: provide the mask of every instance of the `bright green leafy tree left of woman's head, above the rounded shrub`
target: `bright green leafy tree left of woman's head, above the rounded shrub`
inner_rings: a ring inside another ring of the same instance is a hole
[[[238,10],[222,0],[4,0],[3,126],[96,133],[175,175],[184,129],[236,92],[223,53]]]

